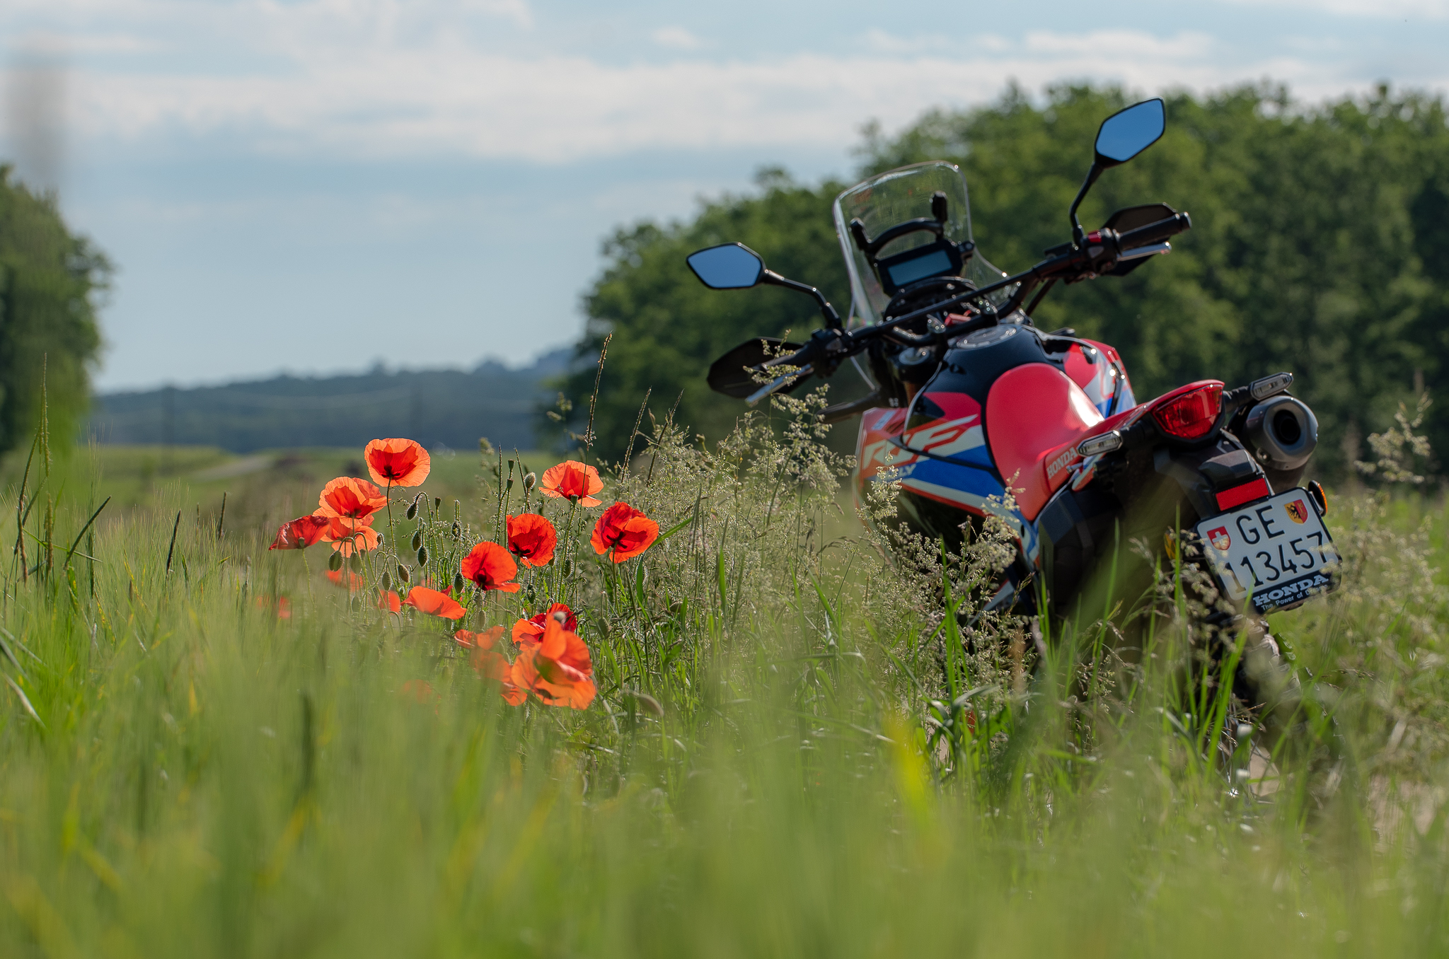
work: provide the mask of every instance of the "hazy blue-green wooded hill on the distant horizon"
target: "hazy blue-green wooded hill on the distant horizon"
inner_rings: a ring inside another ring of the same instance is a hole
[[[222,387],[164,387],[96,397],[87,433],[100,443],[220,446],[236,453],[287,446],[361,446],[406,436],[429,449],[475,449],[480,436],[504,449],[535,449],[535,416],[567,371],[571,349],[510,368],[375,369],[290,377]]]

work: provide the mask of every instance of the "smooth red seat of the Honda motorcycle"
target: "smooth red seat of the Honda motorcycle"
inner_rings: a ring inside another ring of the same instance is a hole
[[[1032,522],[1071,475],[1066,466],[1077,459],[1075,443],[1103,417],[1061,369],[1024,364],[991,384],[985,420],[997,471]]]

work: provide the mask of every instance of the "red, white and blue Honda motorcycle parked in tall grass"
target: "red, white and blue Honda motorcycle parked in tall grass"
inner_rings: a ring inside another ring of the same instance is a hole
[[[1317,420],[1290,393],[1291,372],[1235,388],[1200,380],[1139,403],[1116,349],[1032,322],[1056,284],[1127,275],[1191,227],[1162,203],[1117,210],[1091,232],[1077,216],[1098,177],[1165,126],[1162,100],[1107,117],[1068,210],[1071,240],[1014,275],[977,249],[958,167],[916,164],[851,187],[835,201],[849,323],[817,288],[767,269],[742,243],[691,254],[706,287],[787,287],[814,297],[824,319],[804,343],[742,343],[710,368],[710,387],[755,404],[851,361],[871,391],[823,416],[861,416],[858,493],[888,469],[909,530],[948,545],[987,516],[1013,530],[1016,558],[987,610],[1064,623],[1113,608],[1114,595],[1130,603],[1159,572],[1119,564],[1142,537],[1211,577],[1236,610],[1214,614],[1223,624],[1333,590],[1340,561],[1323,524],[1327,498],[1317,482],[1298,485]]]

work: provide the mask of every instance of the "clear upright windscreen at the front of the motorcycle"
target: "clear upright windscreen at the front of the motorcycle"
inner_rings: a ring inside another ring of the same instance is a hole
[[[881,281],[871,269],[869,261],[855,246],[851,239],[849,225],[859,217],[865,223],[865,235],[880,236],[884,230],[913,220],[930,216],[930,197],[936,191],[946,194],[946,229],[945,238],[959,243],[974,239],[971,236],[971,204],[966,197],[966,178],[961,175],[961,168],[945,161],[930,161],[913,167],[901,167],[888,172],[871,177],[859,183],[835,198],[835,232],[840,238],[840,251],[845,254],[846,269],[851,274],[851,324],[880,323],[881,311],[890,303],[890,297],[881,290]],[[936,238],[924,230],[901,236],[891,240],[884,249],[877,252],[878,259],[885,259],[895,254],[903,254],[916,246],[935,243]],[[942,261],[946,259],[940,254]],[[932,277],[946,267],[945,262],[932,264],[930,256],[911,259],[895,267],[891,274],[895,284],[907,284],[923,277]],[[906,272],[901,272],[906,271]],[[966,280],[978,287],[1000,280],[1000,269],[988,264],[978,252],[965,267]]]

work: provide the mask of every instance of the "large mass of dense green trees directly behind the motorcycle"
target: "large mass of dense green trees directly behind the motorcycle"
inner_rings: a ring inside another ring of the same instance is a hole
[[[929,113],[898,136],[868,132],[858,174],[961,164],[975,240],[1014,272],[1069,238],[1066,207],[1097,125],[1133,99],[1059,87],[1037,104],[1009,90],[982,109]],[[1130,277],[1053,291],[1035,320],[1117,346],[1139,397],[1290,369],[1319,414],[1320,466],[1340,472],[1365,455],[1366,433],[1391,424],[1400,401],[1411,407],[1417,391],[1449,385],[1445,104],[1388,88],[1319,107],[1269,87],[1165,99],[1166,135],[1108,171],[1081,217],[1090,229],[1117,207],[1165,201],[1188,210],[1194,229]],[[596,413],[606,453],[623,452],[646,391],[655,416],[678,398],[678,422],[722,435],[745,406],[709,393],[713,358],[749,336],[800,336],[816,324],[797,294],[704,290],[684,265],[688,252],[740,240],[845,311],[830,203],[846,184],[804,185],[781,171],[758,184],[755,194],[704,203],[690,222],[639,223],[606,243],[578,345],[581,358],[594,356],[613,335]],[[848,378],[842,369],[833,388]],[[565,381],[575,417],[593,384],[591,369]],[[1449,403],[1430,410],[1426,430],[1436,449],[1449,449]]]

